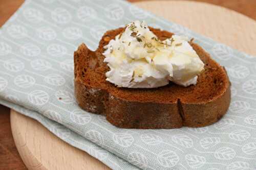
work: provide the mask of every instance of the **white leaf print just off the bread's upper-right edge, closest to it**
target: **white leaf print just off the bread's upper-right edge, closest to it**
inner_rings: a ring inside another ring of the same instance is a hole
[[[223,44],[215,44],[212,48],[212,52],[214,53],[214,56],[220,60],[227,61],[232,57],[231,48]]]

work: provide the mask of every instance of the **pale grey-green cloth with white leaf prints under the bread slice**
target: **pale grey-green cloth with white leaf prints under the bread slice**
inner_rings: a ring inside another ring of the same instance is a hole
[[[228,71],[227,114],[204,128],[119,129],[74,99],[73,52],[131,20],[194,37]],[[113,169],[255,169],[256,58],[124,1],[26,1],[0,31],[0,103]],[[61,100],[60,100],[61,99]]]

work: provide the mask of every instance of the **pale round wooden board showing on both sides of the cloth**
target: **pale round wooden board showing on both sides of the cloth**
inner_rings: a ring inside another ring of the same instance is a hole
[[[256,55],[256,22],[237,12],[204,3],[150,1],[138,7]],[[109,169],[86,152],[60,140],[35,120],[11,111],[17,150],[28,169]]]

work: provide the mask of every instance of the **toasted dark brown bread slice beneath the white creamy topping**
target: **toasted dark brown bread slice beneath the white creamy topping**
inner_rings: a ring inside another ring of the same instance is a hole
[[[173,35],[150,28],[160,40]],[[230,82],[225,69],[212,60],[203,48],[190,42],[204,62],[197,85],[183,87],[174,83],[151,89],[118,88],[105,81],[109,70],[103,63],[103,46],[123,31],[106,32],[93,52],[81,44],[74,53],[75,97],[89,112],[102,114],[121,128],[160,129],[204,127],[217,122],[230,103]]]

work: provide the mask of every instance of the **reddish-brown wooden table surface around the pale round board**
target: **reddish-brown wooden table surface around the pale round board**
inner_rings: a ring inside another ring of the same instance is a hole
[[[137,2],[141,0],[130,0]],[[177,0],[178,1],[178,0]],[[256,19],[255,0],[196,0],[220,5]],[[23,3],[23,0],[0,0],[0,26]],[[7,8],[8,7],[8,8]],[[10,127],[10,110],[0,105],[0,169],[27,169],[20,159],[12,138]]]

